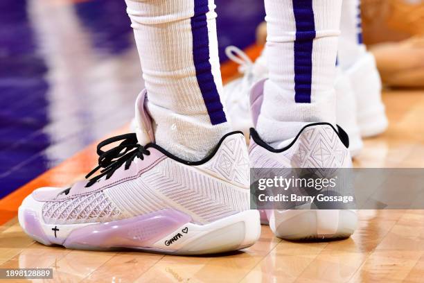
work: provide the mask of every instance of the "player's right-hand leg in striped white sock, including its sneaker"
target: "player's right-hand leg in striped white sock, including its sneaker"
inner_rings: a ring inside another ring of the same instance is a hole
[[[341,6],[341,0],[265,0],[270,78],[251,92],[256,125],[256,131],[251,130],[251,167],[294,168],[293,178],[316,174],[337,180],[343,171],[334,169],[352,166],[346,132],[335,127]],[[299,168],[308,168],[308,174]],[[337,194],[353,196],[346,183],[336,185]],[[308,191],[303,189],[293,186],[281,193],[302,196]],[[328,188],[316,189],[319,194],[333,194]],[[277,237],[333,239],[355,230],[357,217],[349,210],[353,207],[353,201],[348,205],[296,201],[263,208]]]

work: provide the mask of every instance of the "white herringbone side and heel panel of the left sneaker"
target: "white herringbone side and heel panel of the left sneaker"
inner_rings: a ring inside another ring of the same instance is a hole
[[[205,164],[187,166],[167,158],[106,194],[130,216],[172,207],[195,223],[209,223],[249,209],[248,185],[248,154],[240,135],[226,139]]]

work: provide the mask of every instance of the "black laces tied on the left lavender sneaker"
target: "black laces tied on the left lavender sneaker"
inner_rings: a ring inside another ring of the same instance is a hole
[[[102,148],[109,144],[113,144],[116,141],[122,141],[118,146],[109,149],[108,151],[103,151]],[[97,154],[98,154],[98,166],[88,173],[85,178],[90,178],[91,175],[100,170],[100,174],[96,175],[94,178],[91,178],[85,187],[90,187],[94,185],[100,178],[106,176],[106,180],[112,177],[114,172],[125,164],[125,170],[130,168],[131,163],[135,158],[140,158],[143,160],[143,155],[150,155],[150,151],[145,149],[140,144],[137,144],[136,134],[130,133],[125,135],[118,135],[116,137],[111,137],[101,141],[97,145]],[[69,190],[64,191],[65,194],[69,194]]]

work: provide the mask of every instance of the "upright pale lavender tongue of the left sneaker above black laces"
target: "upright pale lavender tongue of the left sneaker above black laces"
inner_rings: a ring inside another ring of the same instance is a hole
[[[145,146],[154,142],[154,133],[152,127],[152,118],[147,109],[147,91],[144,89],[139,94],[135,103],[136,135],[139,144]]]

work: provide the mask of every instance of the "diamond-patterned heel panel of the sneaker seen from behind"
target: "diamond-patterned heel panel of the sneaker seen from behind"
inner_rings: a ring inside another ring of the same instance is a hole
[[[315,180],[310,189],[292,187],[298,196],[315,196],[313,203],[297,203],[297,207],[355,209],[351,153],[332,126],[311,126],[301,132],[294,146],[292,168],[296,178]],[[324,185],[324,180],[330,185]]]

